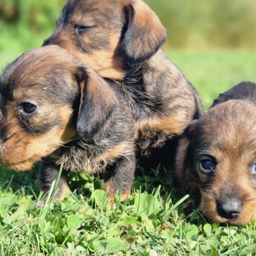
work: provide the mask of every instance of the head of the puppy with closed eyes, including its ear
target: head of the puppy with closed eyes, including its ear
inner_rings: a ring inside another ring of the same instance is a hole
[[[52,36],[101,77],[122,79],[123,63],[137,66],[166,39],[156,14],[142,0],[69,0]]]

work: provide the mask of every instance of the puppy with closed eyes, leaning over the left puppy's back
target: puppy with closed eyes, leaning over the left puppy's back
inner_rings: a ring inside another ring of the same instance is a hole
[[[101,77],[120,81],[142,155],[182,134],[202,101],[160,49],[166,31],[141,0],[69,0],[44,45],[72,51]]]

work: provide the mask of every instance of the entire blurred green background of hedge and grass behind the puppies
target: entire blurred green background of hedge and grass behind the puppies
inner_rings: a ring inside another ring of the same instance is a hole
[[[0,0],[0,69],[41,45],[65,2]],[[146,2],[167,28],[167,55],[199,90],[206,108],[234,84],[256,81],[255,0]]]

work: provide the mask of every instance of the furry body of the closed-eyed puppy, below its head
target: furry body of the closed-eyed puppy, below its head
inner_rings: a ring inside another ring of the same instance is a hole
[[[180,136],[188,122],[203,113],[197,91],[162,50],[143,65],[129,70],[121,90],[136,120],[138,144],[144,156],[150,156],[152,149],[161,148],[168,140]],[[161,121],[166,118],[175,121],[164,130]]]

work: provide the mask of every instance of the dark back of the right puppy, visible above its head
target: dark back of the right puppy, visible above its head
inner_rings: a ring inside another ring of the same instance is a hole
[[[212,107],[228,100],[248,100],[256,105],[256,84],[252,82],[241,82],[214,100]]]

